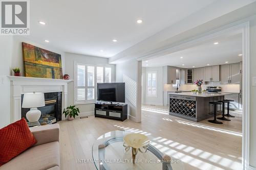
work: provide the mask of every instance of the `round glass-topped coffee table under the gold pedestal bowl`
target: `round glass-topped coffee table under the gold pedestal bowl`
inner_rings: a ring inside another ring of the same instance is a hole
[[[98,170],[112,169],[184,169],[179,159],[164,155],[151,143],[145,153],[138,152],[132,161],[132,149],[125,151],[123,137],[131,131],[111,131],[98,137],[92,148],[93,162]],[[151,140],[152,137],[148,136]]]

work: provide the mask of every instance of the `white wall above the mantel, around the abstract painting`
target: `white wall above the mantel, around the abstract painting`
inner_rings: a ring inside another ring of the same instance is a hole
[[[26,42],[26,43],[29,43],[31,45],[43,48],[45,50],[60,54],[61,55],[61,61],[62,61],[62,72],[63,72],[63,75],[65,75],[65,53],[63,51],[60,51],[57,48],[54,48],[51,45],[51,42],[44,43],[42,41],[41,43],[38,43],[38,42],[33,41],[33,40],[31,40],[27,37],[24,37],[24,36],[13,36],[12,67],[20,67],[20,71],[22,73],[22,76],[24,76],[22,42]]]

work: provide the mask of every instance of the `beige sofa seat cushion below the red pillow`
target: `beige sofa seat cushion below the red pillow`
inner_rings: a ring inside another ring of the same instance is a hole
[[[1,166],[0,170],[46,170],[59,166],[59,157],[59,142],[40,144],[13,158]]]

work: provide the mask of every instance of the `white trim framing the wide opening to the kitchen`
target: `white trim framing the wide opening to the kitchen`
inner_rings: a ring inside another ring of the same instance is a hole
[[[242,115],[242,169],[249,169],[249,142],[250,142],[250,23],[249,21],[237,21],[225,25],[218,29],[203,33],[200,36],[196,36],[184,41],[181,41],[178,45],[164,46],[157,50],[141,56],[137,60],[148,60],[151,58],[160,57],[166,54],[174,53],[184,50],[191,46],[198,45],[207,40],[216,38],[221,35],[225,35],[229,32],[241,31],[242,43],[243,43],[243,115]]]

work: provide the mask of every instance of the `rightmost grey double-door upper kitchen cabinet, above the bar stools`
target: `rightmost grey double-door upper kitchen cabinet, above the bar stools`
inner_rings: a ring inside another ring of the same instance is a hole
[[[240,63],[221,65],[221,83],[239,84],[241,72]]]

